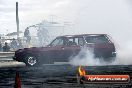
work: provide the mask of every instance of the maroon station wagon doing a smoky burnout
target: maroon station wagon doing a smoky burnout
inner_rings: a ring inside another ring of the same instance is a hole
[[[92,48],[94,56],[104,61],[113,61],[116,57],[115,46],[109,35],[82,34],[58,36],[46,47],[19,49],[13,59],[27,66],[68,62],[69,57],[78,55],[82,47]]]

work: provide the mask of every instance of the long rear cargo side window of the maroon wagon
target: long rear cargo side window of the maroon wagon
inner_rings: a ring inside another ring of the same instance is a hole
[[[104,35],[93,35],[85,38],[87,43],[108,43],[108,39]]]

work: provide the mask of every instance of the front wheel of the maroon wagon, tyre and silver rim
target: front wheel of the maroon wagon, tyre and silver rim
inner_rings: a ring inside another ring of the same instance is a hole
[[[37,57],[34,55],[26,55],[24,62],[27,66],[37,66],[39,64]]]

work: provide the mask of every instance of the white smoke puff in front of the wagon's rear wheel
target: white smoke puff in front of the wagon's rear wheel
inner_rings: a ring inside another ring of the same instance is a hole
[[[94,58],[93,50],[82,48],[79,54],[75,57],[70,57],[71,65],[101,65],[99,58]]]

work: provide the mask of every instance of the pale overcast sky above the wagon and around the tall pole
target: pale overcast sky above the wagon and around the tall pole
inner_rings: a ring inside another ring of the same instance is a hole
[[[16,1],[22,31],[56,15],[74,23],[74,33],[108,33],[118,41],[132,38],[131,0],[0,0],[0,33],[16,31]]]

